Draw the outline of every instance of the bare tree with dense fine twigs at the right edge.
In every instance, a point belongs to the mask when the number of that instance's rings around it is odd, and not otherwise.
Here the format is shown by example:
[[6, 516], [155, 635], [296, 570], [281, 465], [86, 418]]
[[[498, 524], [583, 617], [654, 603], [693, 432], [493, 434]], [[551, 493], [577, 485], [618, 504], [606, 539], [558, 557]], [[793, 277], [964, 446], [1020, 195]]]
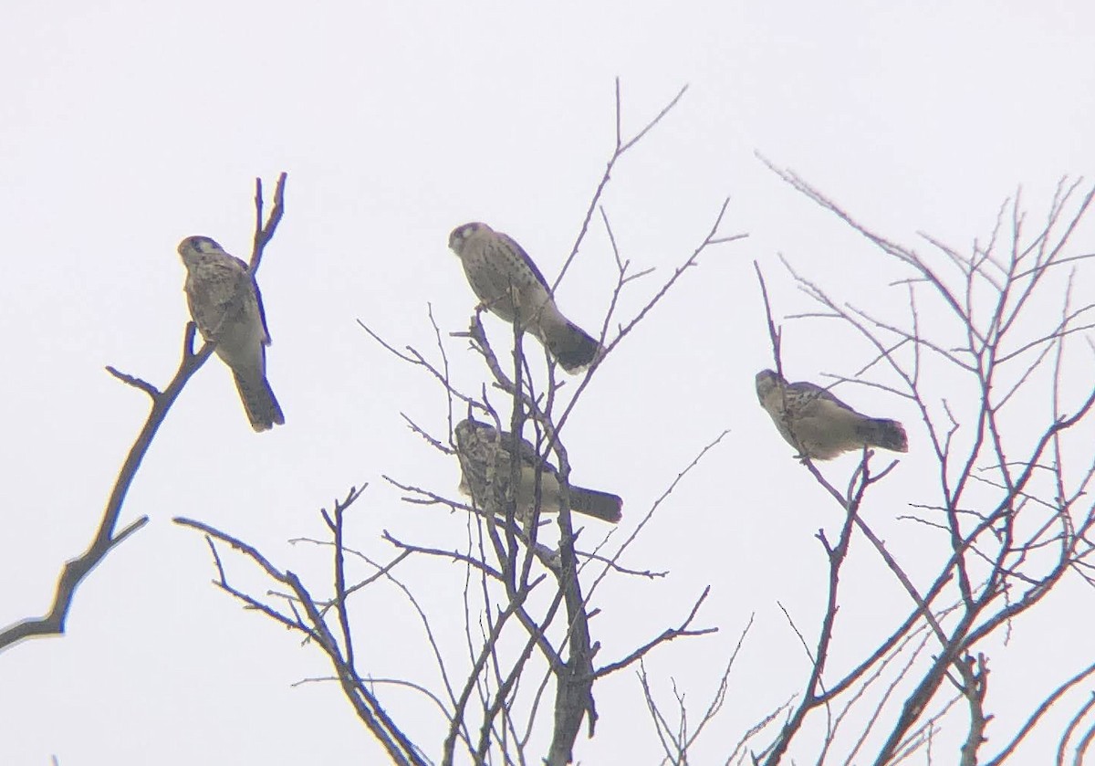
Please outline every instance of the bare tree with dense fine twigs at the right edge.
[[[1016, 195], [1001, 207], [988, 241], [976, 242], [968, 254], [929, 236], [927, 252], [920, 253], [872, 232], [795, 173], [769, 167], [908, 272], [892, 286], [904, 291], [907, 307], [895, 318], [839, 298], [784, 260], [791, 279], [820, 307], [794, 319], [837, 319], [871, 350], [862, 364], [853, 363], [853, 371], [834, 371], [833, 381], [886, 390], [920, 413], [926, 434], [920, 449], [931, 455], [935, 479], [923, 495], [909, 499], [910, 511], [901, 518], [932, 530], [935, 547], [918, 551], [915, 562], [899, 560], [864, 519], [861, 512], [892, 461], [878, 469], [880, 458], [865, 450], [840, 489], [827, 469], [803, 460], [819, 496], [828, 498], [842, 519], [835, 541], [818, 534], [829, 561], [823, 616], [810, 629], [792, 622], [810, 673], [769, 743], [757, 751], [739, 747], [729, 762], [773, 765], [793, 756], [881, 765], [919, 753], [932, 763], [934, 747], [943, 763], [1001, 764], [1045, 728], [1051, 708], [1068, 705], [1076, 712], [1060, 735], [1057, 763], [1065, 763], [1067, 751], [1074, 758], [1069, 763], [1082, 762], [1095, 731], [1093, 704], [1090, 695], [1074, 691], [1095, 673], [1091, 659], [1081, 658], [1072, 671], [1056, 667], [1065, 676], [1060, 686], [1034, 705], [1017, 730], [1000, 731], [996, 724], [990, 753], [994, 706], [987, 645], [1067, 579], [1095, 583], [1095, 506], [1088, 495], [1095, 473], [1090, 355], [1095, 346], [1087, 334], [1095, 327], [1095, 304], [1077, 300], [1073, 289], [1093, 254], [1076, 253], [1072, 245], [1095, 188], [1061, 181], [1045, 222], [1034, 226]], [[759, 268], [758, 276], [781, 368], [782, 325], [773, 321]], [[833, 670], [835, 626], [856, 619], [841, 608], [841, 574], [860, 537], [885, 562], [908, 613], [883, 629], [885, 639], [858, 662]], [[925, 561], [934, 562], [933, 575], [910, 574]], [[819, 738], [804, 734], [814, 719]], [[941, 729], [952, 732], [952, 740], [953, 732], [963, 732], [954, 752], [941, 751], [949, 746], [936, 742]]]

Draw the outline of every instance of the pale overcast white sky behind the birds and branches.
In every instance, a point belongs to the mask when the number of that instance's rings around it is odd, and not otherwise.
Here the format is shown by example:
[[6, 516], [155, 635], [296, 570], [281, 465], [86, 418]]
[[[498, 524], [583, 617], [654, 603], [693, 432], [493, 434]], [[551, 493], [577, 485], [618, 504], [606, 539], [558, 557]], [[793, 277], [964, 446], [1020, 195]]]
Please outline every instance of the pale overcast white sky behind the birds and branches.
[[[771, 358], [751, 263], [764, 266], [782, 315], [809, 305], [779, 267], [780, 252], [867, 305], [892, 301], [886, 285], [901, 275], [753, 152], [794, 168], [890, 238], [913, 242], [924, 230], [956, 248], [989, 231], [1017, 185], [1040, 213], [1062, 174], [1090, 175], [1095, 164], [1095, 7], [1082, 0], [322, 10], [10, 0], [4, 10], [0, 625], [46, 608], [146, 415], [146, 398], [103, 366], [163, 384], [177, 364], [187, 319], [178, 240], [210, 236], [246, 258], [254, 178], [272, 190], [279, 171], [289, 173], [286, 218], [260, 274], [269, 377], [287, 424], [254, 434], [223, 366], [200, 370], [123, 514], [123, 523], [147, 514], [149, 526], [82, 585], [65, 638], [0, 656], [5, 765], [46, 764], [51, 754], [64, 766], [380, 757], [336, 688], [290, 687], [328, 672], [319, 653], [219, 593], [205, 544], [170, 518], [235, 533], [321, 583], [325, 559], [287, 540], [321, 536], [318, 508], [370, 482], [353, 519], [357, 547], [384, 557], [383, 529], [460, 545], [461, 519], [402, 504], [380, 479], [454, 492], [456, 462], [399, 414], [441, 433], [443, 398], [355, 319], [424, 351], [434, 348], [427, 304], [445, 332], [464, 329], [474, 299], [446, 245], [468, 220], [515, 237], [553, 278], [611, 151], [616, 76], [625, 132], [689, 85], [604, 198], [623, 254], [664, 278], [727, 195], [724, 231], [750, 237], [706, 255], [598, 373], [567, 427], [573, 478], [623, 495], [629, 533], [700, 447], [731, 430], [625, 562], [671, 576], [607, 586], [598, 604], [609, 624], [603, 656], [613, 658], [677, 622], [713, 586], [700, 621], [723, 632], [664, 648], [649, 663], [661, 691], [672, 676], [698, 705], [756, 613], [733, 682], [739, 693], [731, 688], [700, 756], [727, 753], [805, 678], [775, 601], [812, 626], [825, 567], [812, 535], [839, 522], [757, 407], [753, 375]], [[560, 304], [599, 327], [612, 282], [595, 229]], [[627, 296], [625, 316], [653, 284]], [[788, 374], [851, 374], [865, 357], [846, 340], [830, 324], [789, 325]], [[476, 389], [475, 357], [458, 340], [449, 352], [458, 380]], [[912, 453], [878, 490], [871, 518], [915, 570], [920, 546], [937, 540], [889, 521], [932, 480], [917, 455], [915, 412], [878, 391], [850, 398], [910, 424]], [[827, 470], [842, 485], [853, 464]], [[850, 564], [857, 607], [844, 660], [863, 645], [856, 632], [875, 634], [874, 617], [908, 608], [877, 559], [861, 553]], [[435, 563], [408, 580], [441, 602], [462, 578]], [[1091, 660], [1082, 640], [1091, 592], [1075, 594], [1085, 601], [1065, 605], [1069, 629], [1052, 633], [1054, 654], [1075, 650], [1062, 675]], [[1053, 608], [1040, 618], [1046, 629], [1058, 625]], [[415, 618], [391, 588], [357, 609], [364, 671], [429, 677]], [[1031, 658], [1046, 636], [1016, 632], [995, 660], [995, 694], [1026, 699], [1040, 688]], [[579, 741], [579, 758], [656, 762], [634, 677], [597, 693], [598, 735]], [[397, 718], [436, 725], [405, 694], [387, 699]]]

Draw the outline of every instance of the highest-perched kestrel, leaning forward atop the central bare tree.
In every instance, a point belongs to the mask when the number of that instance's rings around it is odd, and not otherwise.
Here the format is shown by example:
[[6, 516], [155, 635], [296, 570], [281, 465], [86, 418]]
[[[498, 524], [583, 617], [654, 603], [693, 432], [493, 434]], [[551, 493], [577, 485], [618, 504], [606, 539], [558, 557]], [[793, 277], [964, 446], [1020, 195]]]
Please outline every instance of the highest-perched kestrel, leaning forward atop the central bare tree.
[[551, 287], [528, 253], [486, 224], [464, 224], [449, 236], [449, 248], [460, 256], [464, 273], [483, 306], [512, 322], [519, 317], [563, 369], [578, 373], [603, 353], [601, 344], [564, 317]]

